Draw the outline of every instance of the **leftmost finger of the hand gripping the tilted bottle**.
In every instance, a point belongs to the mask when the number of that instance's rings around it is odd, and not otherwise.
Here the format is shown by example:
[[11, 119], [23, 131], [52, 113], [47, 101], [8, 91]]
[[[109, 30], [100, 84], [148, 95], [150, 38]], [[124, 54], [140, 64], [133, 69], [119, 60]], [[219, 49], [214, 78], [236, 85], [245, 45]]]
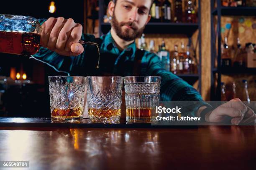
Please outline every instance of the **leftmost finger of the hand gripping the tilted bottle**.
[[42, 32], [41, 32], [41, 45], [43, 47], [47, 47], [49, 36], [51, 33], [54, 24], [56, 23], [56, 18], [49, 18], [46, 20], [42, 25]]

